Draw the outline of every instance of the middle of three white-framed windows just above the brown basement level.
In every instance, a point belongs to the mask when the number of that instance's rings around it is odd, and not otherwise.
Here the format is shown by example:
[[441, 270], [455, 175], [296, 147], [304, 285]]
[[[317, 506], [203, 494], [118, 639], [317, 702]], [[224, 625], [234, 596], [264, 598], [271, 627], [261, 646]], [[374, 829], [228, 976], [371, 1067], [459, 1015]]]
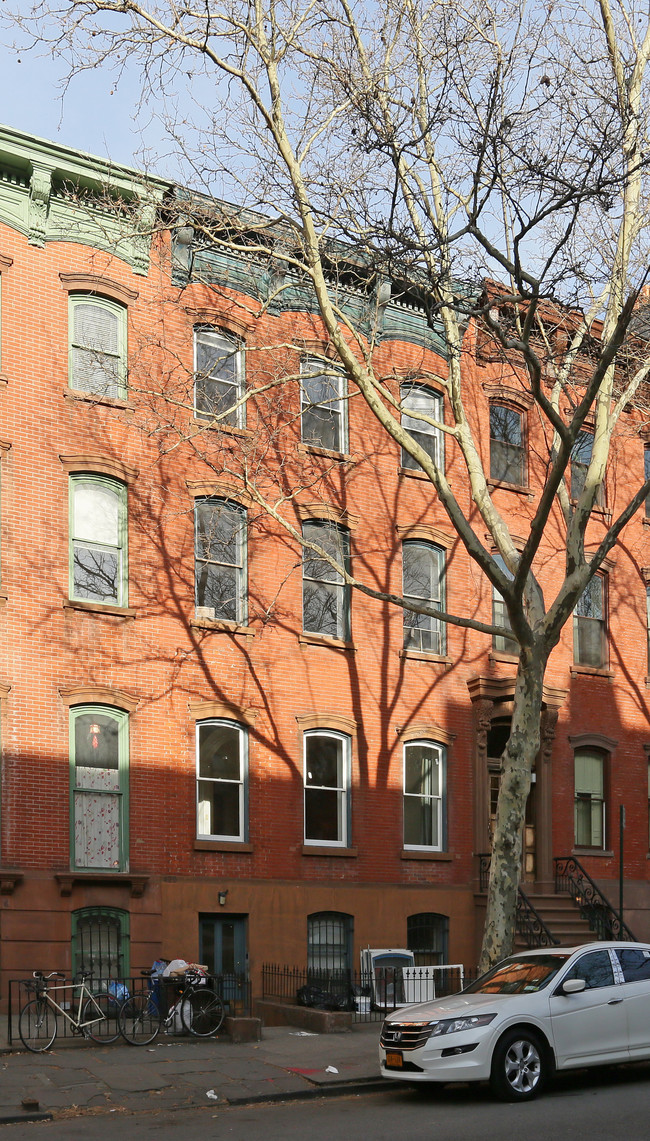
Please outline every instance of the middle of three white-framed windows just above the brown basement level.
[[328, 729], [304, 734], [304, 843], [348, 847], [350, 738]]

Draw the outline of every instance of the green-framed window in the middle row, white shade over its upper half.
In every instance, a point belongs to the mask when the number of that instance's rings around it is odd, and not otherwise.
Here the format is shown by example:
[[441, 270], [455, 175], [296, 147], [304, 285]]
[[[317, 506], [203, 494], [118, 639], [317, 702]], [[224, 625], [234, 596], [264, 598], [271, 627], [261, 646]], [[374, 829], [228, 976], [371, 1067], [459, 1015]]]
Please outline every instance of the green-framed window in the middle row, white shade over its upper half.
[[116, 479], [70, 478], [70, 597], [128, 605], [127, 487]]

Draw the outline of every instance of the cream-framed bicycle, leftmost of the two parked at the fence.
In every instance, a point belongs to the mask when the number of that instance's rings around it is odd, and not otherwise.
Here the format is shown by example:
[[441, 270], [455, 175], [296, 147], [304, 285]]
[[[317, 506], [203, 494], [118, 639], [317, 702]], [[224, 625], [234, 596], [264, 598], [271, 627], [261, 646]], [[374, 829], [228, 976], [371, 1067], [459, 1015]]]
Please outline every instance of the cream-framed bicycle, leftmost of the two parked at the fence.
[[[62, 986], [50, 986], [49, 979], [65, 979], [60, 971], [33, 971], [34, 982], [27, 982], [29, 990], [35, 997], [25, 1003], [18, 1019], [18, 1034], [23, 1045], [32, 1053], [40, 1054], [49, 1050], [58, 1033], [57, 1015], [60, 1014], [72, 1028], [73, 1034], [81, 1034], [92, 1042], [104, 1044], [115, 1042], [120, 1037], [117, 1019], [120, 1002], [109, 994], [92, 994], [88, 988], [91, 974], [82, 974], [79, 982], [64, 982]], [[52, 990], [79, 990], [75, 1000], [76, 1014], [67, 1010], [52, 997]]]

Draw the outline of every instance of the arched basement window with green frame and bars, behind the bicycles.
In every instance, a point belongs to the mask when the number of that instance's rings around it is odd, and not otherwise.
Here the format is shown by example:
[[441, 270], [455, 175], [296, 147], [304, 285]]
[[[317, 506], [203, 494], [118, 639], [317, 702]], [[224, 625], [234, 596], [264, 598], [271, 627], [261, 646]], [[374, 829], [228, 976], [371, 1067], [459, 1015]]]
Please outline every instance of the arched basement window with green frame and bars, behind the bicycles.
[[82, 907], [72, 913], [72, 973], [92, 974], [94, 985], [130, 974], [129, 913]]

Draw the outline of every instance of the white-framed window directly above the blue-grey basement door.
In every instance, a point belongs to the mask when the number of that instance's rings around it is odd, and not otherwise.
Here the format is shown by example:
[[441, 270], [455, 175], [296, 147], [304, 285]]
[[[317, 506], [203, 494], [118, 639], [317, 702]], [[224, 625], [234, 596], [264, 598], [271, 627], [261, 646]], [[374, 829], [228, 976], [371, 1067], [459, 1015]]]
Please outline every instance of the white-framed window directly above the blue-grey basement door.
[[196, 726], [196, 834], [246, 840], [247, 734], [236, 721]]

